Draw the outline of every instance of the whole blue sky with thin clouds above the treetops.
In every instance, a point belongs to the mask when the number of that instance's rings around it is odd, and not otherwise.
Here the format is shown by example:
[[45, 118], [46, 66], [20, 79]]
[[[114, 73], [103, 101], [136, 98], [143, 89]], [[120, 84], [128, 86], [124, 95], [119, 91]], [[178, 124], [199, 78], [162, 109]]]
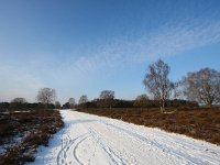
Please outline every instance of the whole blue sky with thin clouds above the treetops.
[[170, 79], [220, 70], [219, 0], [0, 0], [0, 101], [55, 88], [57, 100], [134, 99], [148, 64]]

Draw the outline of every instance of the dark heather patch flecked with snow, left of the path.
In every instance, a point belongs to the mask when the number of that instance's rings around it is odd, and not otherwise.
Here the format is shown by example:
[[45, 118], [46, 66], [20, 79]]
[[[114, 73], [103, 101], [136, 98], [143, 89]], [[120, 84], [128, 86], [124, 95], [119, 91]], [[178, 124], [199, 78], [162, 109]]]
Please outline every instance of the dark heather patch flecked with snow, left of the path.
[[34, 161], [36, 147], [47, 145], [48, 139], [63, 124], [59, 112], [55, 110], [0, 113], [0, 146], [6, 146], [6, 152], [0, 154], [0, 164]]

